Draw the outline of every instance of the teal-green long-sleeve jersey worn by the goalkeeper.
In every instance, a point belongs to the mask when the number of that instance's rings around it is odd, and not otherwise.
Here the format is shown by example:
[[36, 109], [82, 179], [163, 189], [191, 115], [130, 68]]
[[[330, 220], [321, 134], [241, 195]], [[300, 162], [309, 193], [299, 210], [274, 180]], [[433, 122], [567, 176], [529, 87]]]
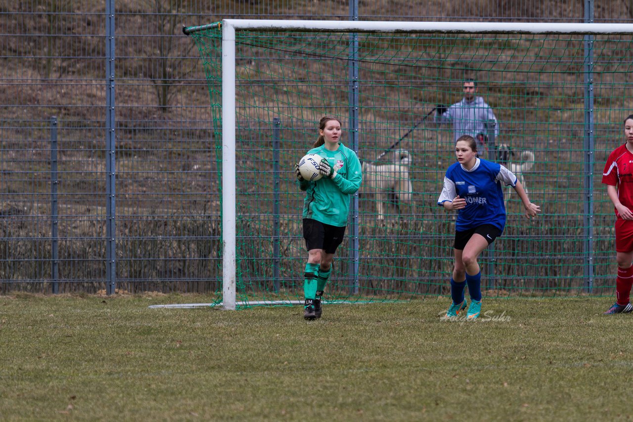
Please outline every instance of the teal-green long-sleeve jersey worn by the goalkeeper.
[[334, 178], [322, 177], [316, 182], [301, 182], [306, 190], [303, 218], [311, 218], [335, 227], [348, 225], [349, 197], [360, 188], [363, 180], [356, 152], [339, 143], [339, 149], [329, 151], [320, 146], [308, 151], [327, 159], [338, 173]]

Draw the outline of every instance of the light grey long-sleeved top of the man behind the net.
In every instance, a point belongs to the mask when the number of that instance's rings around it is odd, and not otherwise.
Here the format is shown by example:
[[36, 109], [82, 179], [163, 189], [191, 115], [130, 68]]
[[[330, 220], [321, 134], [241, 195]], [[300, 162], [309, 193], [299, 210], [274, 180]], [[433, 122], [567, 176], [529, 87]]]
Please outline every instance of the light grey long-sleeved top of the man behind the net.
[[436, 115], [439, 123], [452, 121], [455, 140], [461, 135], [470, 135], [477, 139], [478, 133], [487, 133], [486, 122], [494, 120], [494, 137], [499, 137], [499, 123], [492, 113], [492, 108], [482, 97], [475, 97], [474, 101], [466, 101], [462, 98], [450, 106], [442, 115]]

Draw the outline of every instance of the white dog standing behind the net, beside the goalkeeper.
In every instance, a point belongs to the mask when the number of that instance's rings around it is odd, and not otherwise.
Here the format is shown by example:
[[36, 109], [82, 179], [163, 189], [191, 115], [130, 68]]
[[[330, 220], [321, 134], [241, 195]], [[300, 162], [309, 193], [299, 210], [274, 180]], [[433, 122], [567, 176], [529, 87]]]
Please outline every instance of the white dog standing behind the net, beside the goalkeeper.
[[389, 202], [396, 206], [398, 212], [401, 202], [413, 202], [413, 184], [409, 177], [411, 155], [403, 149], [393, 151], [393, 155], [392, 163], [361, 163], [363, 183], [360, 193], [363, 196], [375, 195], [378, 220], [384, 220]]

